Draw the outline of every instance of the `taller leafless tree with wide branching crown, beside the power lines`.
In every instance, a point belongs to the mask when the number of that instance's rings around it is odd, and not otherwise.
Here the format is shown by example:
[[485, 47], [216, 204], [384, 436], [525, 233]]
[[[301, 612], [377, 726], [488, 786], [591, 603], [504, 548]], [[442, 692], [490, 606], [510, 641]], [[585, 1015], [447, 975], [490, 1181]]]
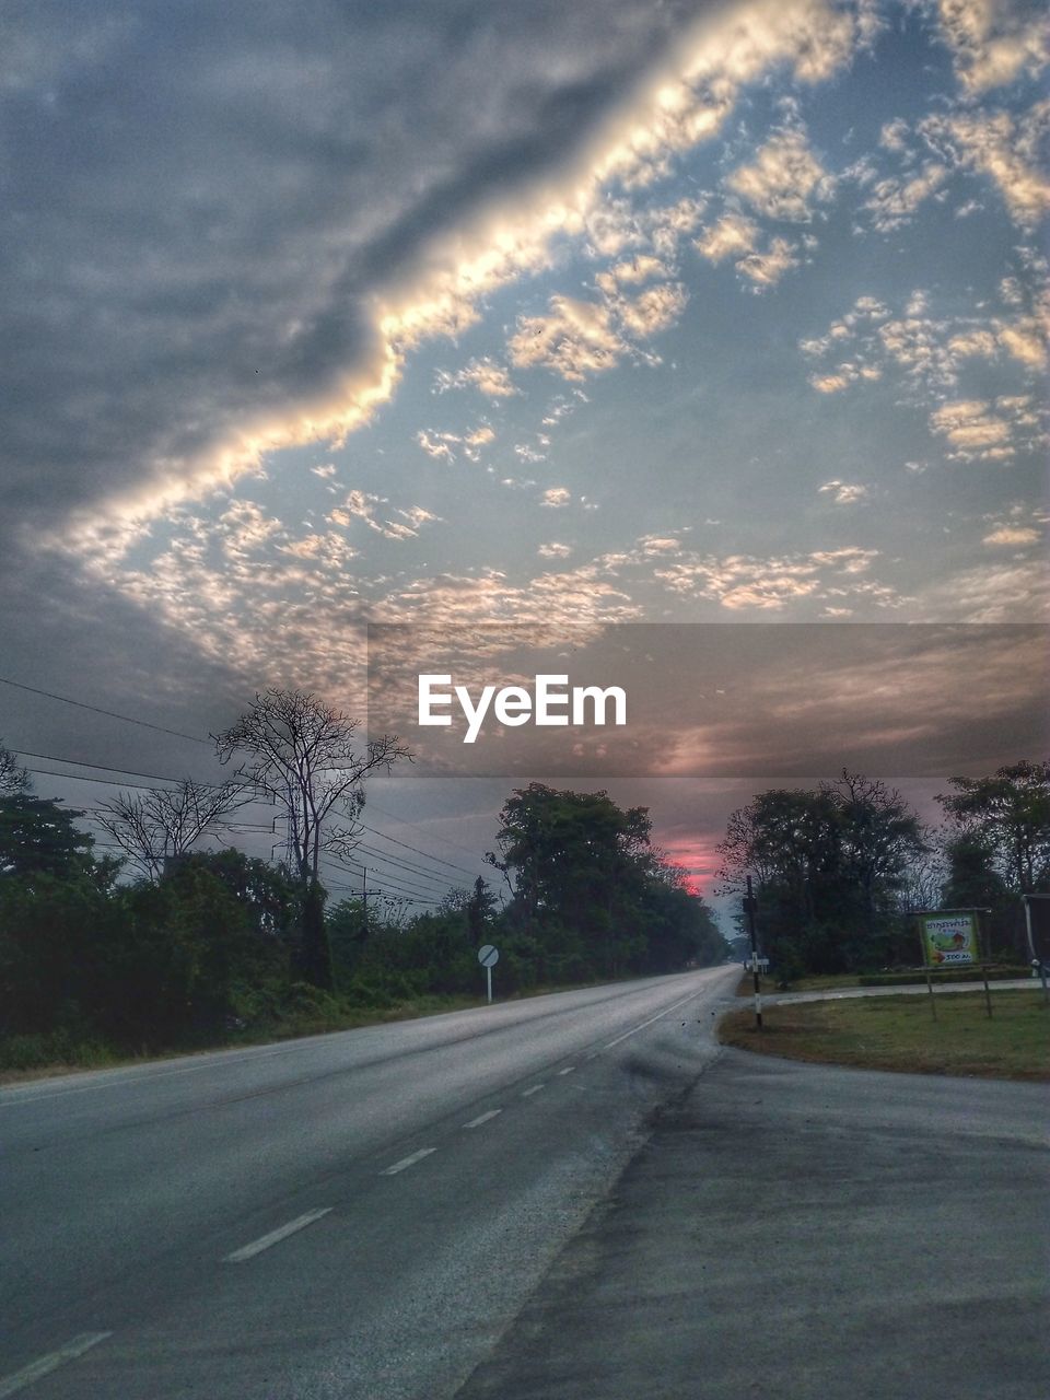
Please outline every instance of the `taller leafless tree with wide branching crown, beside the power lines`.
[[288, 820], [295, 874], [304, 885], [318, 881], [321, 853], [347, 855], [360, 837], [364, 780], [412, 759], [396, 735], [357, 749], [357, 720], [302, 690], [269, 689], [230, 729], [213, 735], [227, 763], [246, 755], [244, 773], [272, 795]]

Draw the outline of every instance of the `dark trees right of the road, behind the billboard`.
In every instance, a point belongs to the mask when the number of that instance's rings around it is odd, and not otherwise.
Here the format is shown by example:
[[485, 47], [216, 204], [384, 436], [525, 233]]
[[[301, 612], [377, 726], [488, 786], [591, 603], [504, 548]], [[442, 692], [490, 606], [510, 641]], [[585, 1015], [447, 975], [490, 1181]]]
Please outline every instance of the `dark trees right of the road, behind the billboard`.
[[986, 951], [1028, 960], [1022, 896], [1050, 890], [1050, 763], [949, 787], [937, 798], [939, 829], [885, 783], [848, 771], [760, 792], [734, 812], [721, 892], [753, 876], [760, 942], [780, 980], [914, 966], [918, 909], [987, 910]]

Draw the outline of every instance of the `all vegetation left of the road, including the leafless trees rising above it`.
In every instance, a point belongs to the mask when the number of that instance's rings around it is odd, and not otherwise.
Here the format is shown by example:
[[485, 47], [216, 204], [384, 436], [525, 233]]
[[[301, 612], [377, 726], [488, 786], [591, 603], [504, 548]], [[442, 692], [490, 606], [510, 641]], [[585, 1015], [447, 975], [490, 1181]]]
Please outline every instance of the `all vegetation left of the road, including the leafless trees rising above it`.
[[[367, 776], [405, 756], [389, 738], [358, 755], [354, 738], [314, 697], [267, 692], [217, 736], [235, 778], [106, 805], [122, 858], [98, 854], [84, 813], [34, 795], [0, 746], [0, 1072], [476, 1005], [486, 942], [500, 948], [500, 998], [725, 958], [710, 910], [652, 846], [647, 811], [603, 792], [517, 790], [486, 855], [491, 879], [430, 906], [332, 899], [323, 861], [353, 853]], [[245, 790], [283, 804], [291, 860], [202, 848]]]

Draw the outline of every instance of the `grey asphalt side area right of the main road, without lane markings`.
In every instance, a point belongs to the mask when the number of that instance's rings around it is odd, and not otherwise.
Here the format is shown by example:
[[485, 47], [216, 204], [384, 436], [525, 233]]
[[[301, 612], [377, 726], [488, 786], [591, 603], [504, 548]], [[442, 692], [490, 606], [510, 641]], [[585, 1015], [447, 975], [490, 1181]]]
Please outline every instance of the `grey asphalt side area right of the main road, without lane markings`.
[[727, 1050], [459, 1400], [1050, 1393], [1046, 1107]]

